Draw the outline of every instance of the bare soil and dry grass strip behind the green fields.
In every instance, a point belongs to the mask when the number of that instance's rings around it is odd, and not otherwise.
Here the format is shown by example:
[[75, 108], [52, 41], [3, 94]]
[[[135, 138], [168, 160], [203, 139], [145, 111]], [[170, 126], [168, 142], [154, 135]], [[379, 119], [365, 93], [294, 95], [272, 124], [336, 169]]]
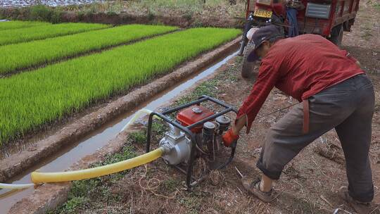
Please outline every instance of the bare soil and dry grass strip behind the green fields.
[[176, 25], [179, 27], [243, 27], [245, 0], [213, 1], [104, 1], [39, 9], [0, 8], [0, 17], [44, 20], [52, 23], [85, 22]]

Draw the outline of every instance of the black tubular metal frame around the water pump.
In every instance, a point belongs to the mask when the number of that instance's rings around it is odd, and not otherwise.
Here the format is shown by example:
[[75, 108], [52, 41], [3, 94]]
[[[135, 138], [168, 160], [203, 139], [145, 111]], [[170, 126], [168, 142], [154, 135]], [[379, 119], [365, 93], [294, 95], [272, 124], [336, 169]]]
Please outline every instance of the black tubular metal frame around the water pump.
[[[182, 110], [184, 108], [187, 108], [189, 106], [194, 106], [194, 105], [200, 106], [201, 103], [203, 103], [205, 101], [211, 101], [211, 102], [213, 102], [219, 106], [222, 106], [222, 107], [224, 107], [224, 110], [220, 111], [219, 113], [215, 113], [213, 115], [210, 115], [209, 117], [204, 118], [203, 120], [199, 120], [198, 122], [191, 124], [191, 125], [188, 125], [188, 126], [183, 126], [183, 125], [179, 124], [176, 120], [173, 120], [172, 118], [170, 118], [168, 116], [170, 113], [175, 113], [175, 112]], [[189, 163], [187, 164], [187, 169], [184, 170], [184, 169], [180, 168], [179, 165], [175, 165], [175, 168], [179, 169], [181, 172], [184, 172], [184, 174], [186, 174], [186, 186], [187, 186], [188, 190], [191, 190], [191, 187], [196, 186], [197, 184], [199, 184], [200, 182], [205, 180], [205, 178], [208, 176], [208, 174], [205, 174], [205, 175], [201, 176], [200, 178], [198, 178], [198, 180], [192, 176], [193, 175], [193, 168], [194, 168], [194, 160], [196, 158], [195, 157], [195, 154], [196, 154], [196, 152], [195, 152], [196, 151], [196, 134], [191, 132], [191, 128], [196, 127], [198, 125], [203, 125], [203, 123], [208, 122], [210, 120], [213, 120], [213, 119], [219, 117], [220, 115], [224, 115], [224, 114], [229, 113], [231, 111], [233, 111], [237, 115], [236, 109], [233, 108], [232, 106], [229, 106], [226, 103], [224, 103], [223, 101], [220, 101], [220, 100], [215, 99], [213, 97], [203, 95], [203, 96], [199, 97], [196, 101], [191, 101], [190, 103], [186, 103], [182, 106], [170, 108], [166, 111], [163, 111], [163, 113], [152, 112], [149, 115], [149, 119], [148, 119], [148, 133], [147, 133], [147, 137], [146, 137], [146, 152], [149, 152], [151, 150], [152, 123], [153, 123], [153, 116], [155, 116], [155, 115], [157, 117], [165, 120], [165, 122], [177, 127], [179, 130], [184, 132], [188, 137], [190, 137], [190, 139], [191, 139], [191, 151], [190, 151]], [[232, 145], [231, 154], [230, 154], [228, 160], [225, 163], [222, 163], [221, 165], [219, 165], [216, 168], [217, 170], [220, 170], [220, 169], [226, 167], [229, 163], [231, 163], [231, 161], [235, 155], [235, 150], [236, 150], [236, 144]]]

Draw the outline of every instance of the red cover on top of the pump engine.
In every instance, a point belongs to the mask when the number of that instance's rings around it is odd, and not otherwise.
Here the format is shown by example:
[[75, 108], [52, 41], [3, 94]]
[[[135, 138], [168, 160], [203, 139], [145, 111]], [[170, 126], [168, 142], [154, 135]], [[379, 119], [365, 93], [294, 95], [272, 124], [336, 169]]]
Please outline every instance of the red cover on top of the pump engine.
[[[203, 120], [204, 118], [207, 118], [213, 114], [213, 111], [210, 111], [210, 109], [205, 108], [203, 106], [190, 106], [182, 111], [179, 111], [179, 113], [177, 114], [177, 120], [181, 123], [181, 125], [188, 126], [198, 122], [199, 120]], [[192, 128], [191, 132], [198, 133], [201, 132], [201, 130], [202, 125], [199, 125], [197, 127]]]

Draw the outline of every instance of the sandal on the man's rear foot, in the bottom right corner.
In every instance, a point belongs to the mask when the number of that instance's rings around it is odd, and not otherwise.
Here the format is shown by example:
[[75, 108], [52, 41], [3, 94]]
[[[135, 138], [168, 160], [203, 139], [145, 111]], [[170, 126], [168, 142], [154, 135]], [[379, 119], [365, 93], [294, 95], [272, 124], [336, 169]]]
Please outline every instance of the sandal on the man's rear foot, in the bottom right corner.
[[[343, 201], [346, 201], [348, 205], [355, 210], [355, 212], [359, 214], [369, 214], [374, 213], [374, 211], [378, 208], [371, 206], [371, 203], [363, 203], [360, 201], [356, 201], [353, 199], [353, 197], [348, 194], [348, 188], [347, 187], [341, 187], [338, 190], [338, 195], [343, 199]], [[378, 210], [380, 213], [380, 210]]]

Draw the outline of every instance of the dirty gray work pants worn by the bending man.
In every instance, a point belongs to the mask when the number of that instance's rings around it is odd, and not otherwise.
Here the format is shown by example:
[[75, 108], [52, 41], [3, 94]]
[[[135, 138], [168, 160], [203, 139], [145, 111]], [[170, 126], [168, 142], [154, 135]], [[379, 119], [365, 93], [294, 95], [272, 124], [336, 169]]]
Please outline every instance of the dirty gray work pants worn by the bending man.
[[274, 124], [262, 146], [258, 168], [278, 180], [284, 166], [305, 146], [335, 128], [346, 158], [350, 196], [369, 202], [374, 197], [369, 145], [374, 113], [374, 88], [367, 75], [356, 75], [309, 98], [309, 132], [303, 133], [303, 104]]

